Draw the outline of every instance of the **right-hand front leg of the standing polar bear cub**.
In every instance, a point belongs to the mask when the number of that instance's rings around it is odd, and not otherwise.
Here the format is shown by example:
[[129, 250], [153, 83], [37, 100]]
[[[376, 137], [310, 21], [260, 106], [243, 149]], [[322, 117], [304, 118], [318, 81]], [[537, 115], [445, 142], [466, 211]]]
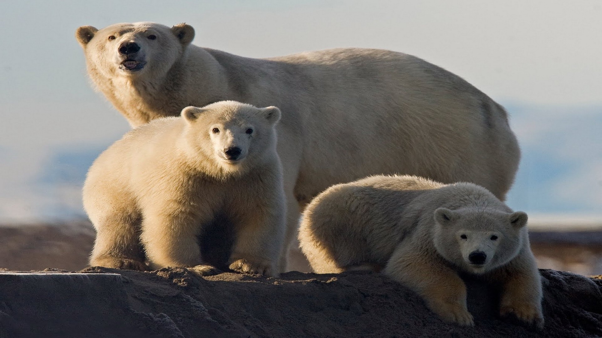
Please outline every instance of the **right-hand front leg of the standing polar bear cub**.
[[[286, 204], [282, 185], [270, 186], [264, 180], [258, 189], [246, 189], [247, 194], [232, 200], [235, 242], [229, 268], [248, 274], [275, 277], [286, 230]], [[249, 192], [255, 191], [255, 194]]]

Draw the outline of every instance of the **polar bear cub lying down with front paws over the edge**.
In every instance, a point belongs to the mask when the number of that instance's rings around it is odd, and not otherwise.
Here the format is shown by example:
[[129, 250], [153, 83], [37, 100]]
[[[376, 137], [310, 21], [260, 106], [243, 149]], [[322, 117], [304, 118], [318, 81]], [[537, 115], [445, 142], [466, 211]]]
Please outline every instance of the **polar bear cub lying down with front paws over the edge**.
[[543, 324], [527, 214], [472, 183], [373, 176], [335, 185], [303, 212], [299, 242], [318, 273], [382, 271], [447, 321], [473, 325], [458, 271], [502, 288], [502, 315]]

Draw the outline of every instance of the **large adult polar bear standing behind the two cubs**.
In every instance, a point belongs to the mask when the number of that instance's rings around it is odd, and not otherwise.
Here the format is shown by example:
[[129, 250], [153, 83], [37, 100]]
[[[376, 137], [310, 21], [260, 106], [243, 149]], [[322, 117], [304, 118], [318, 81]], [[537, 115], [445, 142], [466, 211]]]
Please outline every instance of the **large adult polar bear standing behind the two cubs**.
[[81, 26], [76, 38], [90, 78], [132, 127], [220, 100], [278, 106], [288, 242], [303, 206], [336, 183], [414, 174], [473, 182], [504, 200], [518, 168], [504, 109], [411, 55], [353, 48], [245, 58], [190, 45], [194, 29], [184, 23]]

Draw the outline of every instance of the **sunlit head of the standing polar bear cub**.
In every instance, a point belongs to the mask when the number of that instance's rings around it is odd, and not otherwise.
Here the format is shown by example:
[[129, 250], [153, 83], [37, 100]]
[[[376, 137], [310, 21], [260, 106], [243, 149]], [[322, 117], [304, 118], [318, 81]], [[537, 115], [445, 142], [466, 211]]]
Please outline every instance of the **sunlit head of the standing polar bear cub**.
[[185, 140], [190, 153], [201, 153], [224, 173], [241, 173], [272, 160], [276, 153], [276, 123], [280, 109], [220, 101], [182, 109]]

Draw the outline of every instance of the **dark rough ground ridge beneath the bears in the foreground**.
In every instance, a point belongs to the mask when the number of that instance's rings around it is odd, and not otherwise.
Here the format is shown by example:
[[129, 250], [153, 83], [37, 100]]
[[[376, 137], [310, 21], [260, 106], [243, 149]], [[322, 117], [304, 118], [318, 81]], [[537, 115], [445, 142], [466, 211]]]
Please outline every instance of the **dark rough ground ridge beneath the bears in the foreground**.
[[[113, 284], [95, 285], [105, 283], [98, 278], [84, 288], [77, 286], [81, 283], [66, 287], [39, 281], [47, 297], [37, 295], [32, 304], [29, 298], [14, 297], [7, 284], [11, 281], [0, 275], [0, 336], [40, 336], [45, 328], [39, 324], [38, 331], [27, 331], [40, 311], [45, 311], [45, 323], [53, 323], [44, 337], [602, 336], [602, 280], [554, 270], [541, 270], [542, 330], [500, 318], [495, 287], [470, 278], [468, 308], [476, 326], [467, 328], [442, 322], [420, 297], [370, 272], [287, 272], [279, 278], [231, 272], [200, 278], [181, 268], [138, 272], [95, 267], [81, 272], [122, 277], [117, 284], [109, 278], [106, 283]], [[104, 301], [96, 304], [99, 300]], [[22, 308], [28, 316], [19, 316]]]

